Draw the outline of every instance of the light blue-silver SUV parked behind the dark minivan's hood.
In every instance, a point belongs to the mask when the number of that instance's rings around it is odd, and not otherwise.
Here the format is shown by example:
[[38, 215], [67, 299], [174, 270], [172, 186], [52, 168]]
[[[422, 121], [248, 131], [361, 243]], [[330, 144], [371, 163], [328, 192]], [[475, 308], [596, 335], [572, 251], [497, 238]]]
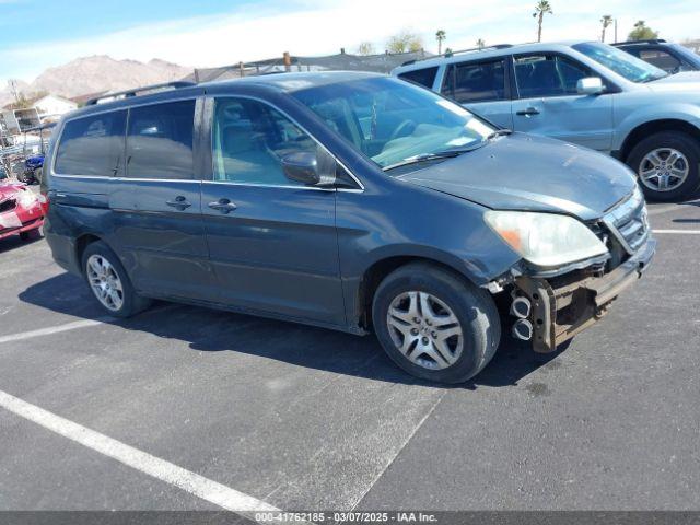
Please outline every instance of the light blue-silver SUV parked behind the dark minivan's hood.
[[609, 153], [648, 198], [700, 186], [700, 72], [669, 74], [598, 42], [501, 45], [404, 65], [404, 80], [515, 131]]

